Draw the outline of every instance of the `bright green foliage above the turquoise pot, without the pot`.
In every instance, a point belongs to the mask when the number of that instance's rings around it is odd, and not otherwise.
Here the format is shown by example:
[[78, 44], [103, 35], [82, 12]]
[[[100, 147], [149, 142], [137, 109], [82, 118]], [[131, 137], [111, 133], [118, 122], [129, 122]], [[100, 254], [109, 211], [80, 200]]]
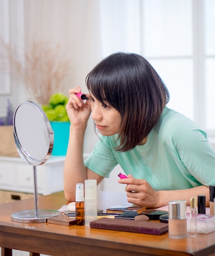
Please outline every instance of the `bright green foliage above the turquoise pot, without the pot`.
[[68, 97], [61, 92], [57, 92], [51, 95], [48, 105], [42, 105], [42, 109], [46, 113], [49, 121], [69, 121], [66, 112], [66, 103]]

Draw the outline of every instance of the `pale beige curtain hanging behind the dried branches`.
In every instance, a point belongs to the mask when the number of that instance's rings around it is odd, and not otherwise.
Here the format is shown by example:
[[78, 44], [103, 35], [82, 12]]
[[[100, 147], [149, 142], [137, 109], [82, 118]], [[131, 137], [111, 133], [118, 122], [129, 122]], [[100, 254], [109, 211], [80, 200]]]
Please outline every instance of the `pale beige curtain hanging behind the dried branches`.
[[77, 85], [101, 59], [99, 0], [25, 0], [25, 44], [59, 44], [70, 58], [64, 92]]

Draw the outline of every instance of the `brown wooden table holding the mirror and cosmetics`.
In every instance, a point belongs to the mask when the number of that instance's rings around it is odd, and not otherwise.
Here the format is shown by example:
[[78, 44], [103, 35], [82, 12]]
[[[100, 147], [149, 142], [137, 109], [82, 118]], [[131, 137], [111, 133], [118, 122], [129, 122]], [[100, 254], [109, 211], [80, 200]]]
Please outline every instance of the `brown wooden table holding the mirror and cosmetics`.
[[[98, 208], [126, 205], [125, 194], [99, 192]], [[39, 209], [58, 210], [67, 201], [64, 193], [38, 198]], [[34, 209], [34, 200], [26, 199], [0, 205], [0, 247], [2, 256], [12, 249], [30, 252], [31, 256], [102, 255], [215, 255], [215, 232], [197, 234], [196, 238], [173, 240], [161, 236], [130, 232], [91, 229], [85, 226], [62, 226], [50, 223], [26, 224], [11, 221], [11, 213]], [[33, 252], [33, 253], [32, 253]]]

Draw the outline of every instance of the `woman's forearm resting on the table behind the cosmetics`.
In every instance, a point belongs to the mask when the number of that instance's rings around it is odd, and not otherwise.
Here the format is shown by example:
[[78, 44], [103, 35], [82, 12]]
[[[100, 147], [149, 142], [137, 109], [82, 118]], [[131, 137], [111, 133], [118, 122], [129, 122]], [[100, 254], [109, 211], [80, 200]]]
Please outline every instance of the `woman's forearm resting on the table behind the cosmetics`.
[[197, 186], [192, 189], [182, 190], [169, 190], [169, 191], [158, 191], [159, 202], [158, 207], [168, 205], [171, 200], [185, 200], [187, 205], [190, 205], [190, 198], [197, 197], [198, 195], [206, 196], [206, 206], [209, 206], [209, 188], [207, 186]]

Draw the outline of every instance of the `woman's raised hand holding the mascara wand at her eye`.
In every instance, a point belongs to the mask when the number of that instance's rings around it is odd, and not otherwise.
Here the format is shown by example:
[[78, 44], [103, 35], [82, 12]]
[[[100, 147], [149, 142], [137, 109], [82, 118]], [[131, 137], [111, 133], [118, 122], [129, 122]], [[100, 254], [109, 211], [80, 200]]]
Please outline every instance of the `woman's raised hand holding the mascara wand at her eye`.
[[74, 126], [86, 124], [91, 113], [91, 97], [86, 94], [89, 98], [84, 103], [83, 100], [79, 99], [76, 93], [81, 92], [79, 86], [69, 90], [69, 100], [66, 104], [66, 111], [70, 119], [70, 123]]

